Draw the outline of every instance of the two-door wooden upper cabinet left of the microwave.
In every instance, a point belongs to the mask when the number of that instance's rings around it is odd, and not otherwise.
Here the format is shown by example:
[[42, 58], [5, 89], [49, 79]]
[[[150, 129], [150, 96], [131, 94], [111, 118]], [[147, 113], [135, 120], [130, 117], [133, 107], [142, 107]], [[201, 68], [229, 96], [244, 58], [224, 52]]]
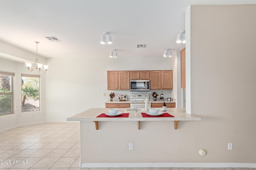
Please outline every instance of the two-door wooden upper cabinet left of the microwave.
[[130, 90], [130, 71], [107, 71], [108, 90]]

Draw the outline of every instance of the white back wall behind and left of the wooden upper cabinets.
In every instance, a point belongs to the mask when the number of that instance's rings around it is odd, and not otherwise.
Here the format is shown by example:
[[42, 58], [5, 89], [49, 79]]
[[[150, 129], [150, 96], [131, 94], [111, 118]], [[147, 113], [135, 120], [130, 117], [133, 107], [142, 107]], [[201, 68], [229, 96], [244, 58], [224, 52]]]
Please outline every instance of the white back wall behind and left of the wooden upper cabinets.
[[[110, 98], [110, 92], [130, 94], [129, 90], [107, 90], [108, 70], [171, 70], [171, 60], [162, 56], [110, 58], [108, 55], [100, 58], [49, 59], [50, 68], [46, 77], [46, 121], [66, 121], [67, 117], [89, 108], [105, 107], [104, 102]], [[172, 93], [173, 90], [154, 91], [158, 94], [163, 92], [165, 97], [176, 96], [176, 93]]]

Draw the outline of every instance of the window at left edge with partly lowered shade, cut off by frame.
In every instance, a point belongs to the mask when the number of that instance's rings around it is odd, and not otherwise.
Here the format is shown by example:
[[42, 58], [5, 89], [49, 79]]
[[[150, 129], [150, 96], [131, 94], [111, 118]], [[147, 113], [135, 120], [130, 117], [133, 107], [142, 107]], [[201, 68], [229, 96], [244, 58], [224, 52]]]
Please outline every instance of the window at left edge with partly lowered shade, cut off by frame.
[[12, 72], [0, 71], [0, 115], [13, 113], [13, 77]]

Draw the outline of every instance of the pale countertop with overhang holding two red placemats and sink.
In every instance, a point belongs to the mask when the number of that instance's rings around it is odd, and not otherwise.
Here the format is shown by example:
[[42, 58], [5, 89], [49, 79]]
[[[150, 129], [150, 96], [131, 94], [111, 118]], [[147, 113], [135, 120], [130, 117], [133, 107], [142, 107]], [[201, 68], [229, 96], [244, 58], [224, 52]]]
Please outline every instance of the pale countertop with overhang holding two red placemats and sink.
[[[159, 109], [160, 111], [162, 108]], [[119, 108], [119, 111], [125, 113], [125, 108]], [[165, 113], [174, 117], [142, 117], [141, 112], [130, 112], [129, 117], [97, 117], [101, 113], [108, 112], [108, 108], [91, 108], [77, 115], [67, 118], [67, 121], [199, 121], [200, 117], [188, 114], [185, 108], [167, 108]]]

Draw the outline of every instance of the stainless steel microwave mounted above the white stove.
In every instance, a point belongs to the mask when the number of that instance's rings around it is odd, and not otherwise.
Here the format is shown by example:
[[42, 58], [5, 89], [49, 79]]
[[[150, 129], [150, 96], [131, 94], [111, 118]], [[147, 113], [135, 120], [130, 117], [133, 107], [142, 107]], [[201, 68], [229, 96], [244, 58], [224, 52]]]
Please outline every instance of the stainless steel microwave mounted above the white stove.
[[149, 91], [150, 80], [130, 80], [130, 91]]

